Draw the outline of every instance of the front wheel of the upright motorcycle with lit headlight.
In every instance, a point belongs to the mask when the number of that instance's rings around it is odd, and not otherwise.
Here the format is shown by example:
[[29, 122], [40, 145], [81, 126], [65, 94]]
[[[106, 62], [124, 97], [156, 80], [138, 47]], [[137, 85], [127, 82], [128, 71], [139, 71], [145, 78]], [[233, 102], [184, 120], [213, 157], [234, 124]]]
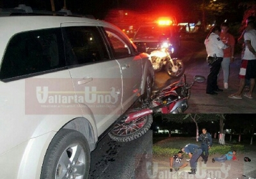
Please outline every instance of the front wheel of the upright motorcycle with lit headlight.
[[185, 67], [184, 63], [177, 59], [174, 61], [174, 66], [172, 65], [172, 62], [168, 62], [165, 68], [166, 72], [170, 77], [180, 77], [182, 74], [184, 74]]

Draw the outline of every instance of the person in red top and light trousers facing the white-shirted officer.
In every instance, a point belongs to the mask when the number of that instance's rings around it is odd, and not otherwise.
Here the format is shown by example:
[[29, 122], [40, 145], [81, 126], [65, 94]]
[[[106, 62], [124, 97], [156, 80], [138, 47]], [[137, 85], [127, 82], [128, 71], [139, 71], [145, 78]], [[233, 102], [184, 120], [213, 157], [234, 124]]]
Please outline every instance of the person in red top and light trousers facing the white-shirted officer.
[[220, 39], [223, 43], [230, 45], [230, 48], [224, 49], [223, 61], [221, 62], [221, 68], [223, 70], [223, 85], [225, 89], [228, 89], [228, 76], [229, 76], [229, 65], [234, 62], [235, 52], [235, 38], [233, 35], [228, 33], [228, 23], [223, 22], [221, 24]]

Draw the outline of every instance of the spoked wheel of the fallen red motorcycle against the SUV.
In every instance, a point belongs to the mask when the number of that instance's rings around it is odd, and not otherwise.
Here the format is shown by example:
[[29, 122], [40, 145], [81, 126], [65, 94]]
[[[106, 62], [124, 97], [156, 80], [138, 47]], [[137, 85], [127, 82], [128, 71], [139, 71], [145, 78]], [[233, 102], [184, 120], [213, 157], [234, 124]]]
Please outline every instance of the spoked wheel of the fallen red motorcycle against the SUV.
[[[134, 113], [141, 109], [132, 109], [127, 113]], [[109, 137], [117, 142], [129, 142], [145, 134], [153, 121], [152, 114], [142, 116], [134, 121], [125, 123], [125, 118], [118, 121], [108, 133]]]

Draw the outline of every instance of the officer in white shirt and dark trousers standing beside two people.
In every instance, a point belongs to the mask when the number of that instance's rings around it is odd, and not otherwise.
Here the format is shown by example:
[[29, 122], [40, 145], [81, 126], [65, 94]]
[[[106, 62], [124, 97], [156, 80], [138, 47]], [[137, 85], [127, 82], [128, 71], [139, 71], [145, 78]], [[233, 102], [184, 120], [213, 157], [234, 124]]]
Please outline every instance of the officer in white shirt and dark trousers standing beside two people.
[[208, 61], [214, 61], [211, 64], [209, 63], [211, 68], [207, 77], [206, 87], [206, 93], [209, 95], [218, 95], [215, 91], [223, 91], [223, 89], [218, 87], [217, 79], [220, 72], [221, 61], [223, 60], [223, 49], [227, 49], [229, 46], [221, 41], [220, 33], [220, 26], [212, 27], [204, 42]]

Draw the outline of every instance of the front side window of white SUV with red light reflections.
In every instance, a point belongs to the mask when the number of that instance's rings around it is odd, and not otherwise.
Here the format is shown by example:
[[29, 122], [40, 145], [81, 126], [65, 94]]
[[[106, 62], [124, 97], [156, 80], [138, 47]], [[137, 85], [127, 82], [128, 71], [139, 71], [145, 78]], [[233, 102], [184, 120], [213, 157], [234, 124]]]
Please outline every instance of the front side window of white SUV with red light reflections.
[[115, 58], [125, 58], [131, 56], [131, 49], [128, 45], [130, 42], [128, 42], [122, 35], [113, 29], [105, 27], [104, 30]]

